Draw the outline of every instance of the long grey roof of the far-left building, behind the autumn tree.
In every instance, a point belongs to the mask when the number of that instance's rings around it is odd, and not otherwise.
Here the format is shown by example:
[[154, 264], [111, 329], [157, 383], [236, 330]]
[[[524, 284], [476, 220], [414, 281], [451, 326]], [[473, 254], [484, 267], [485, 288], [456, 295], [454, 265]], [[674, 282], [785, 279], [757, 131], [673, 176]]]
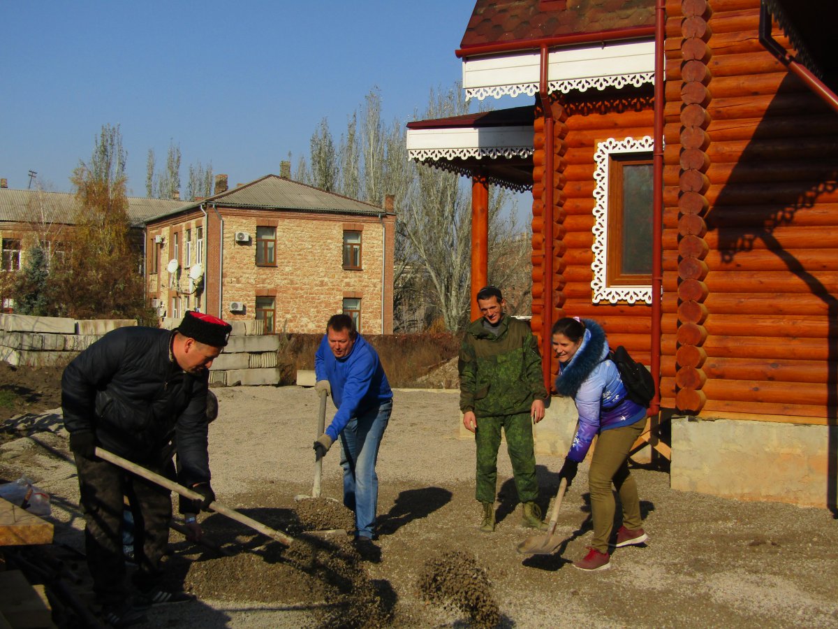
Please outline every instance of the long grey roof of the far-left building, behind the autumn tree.
[[[128, 219], [142, 226], [150, 216], [183, 207], [184, 201], [128, 197]], [[78, 202], [70, 192], [0, 188], [0, 222], [55, 222], [74, 225]]]

